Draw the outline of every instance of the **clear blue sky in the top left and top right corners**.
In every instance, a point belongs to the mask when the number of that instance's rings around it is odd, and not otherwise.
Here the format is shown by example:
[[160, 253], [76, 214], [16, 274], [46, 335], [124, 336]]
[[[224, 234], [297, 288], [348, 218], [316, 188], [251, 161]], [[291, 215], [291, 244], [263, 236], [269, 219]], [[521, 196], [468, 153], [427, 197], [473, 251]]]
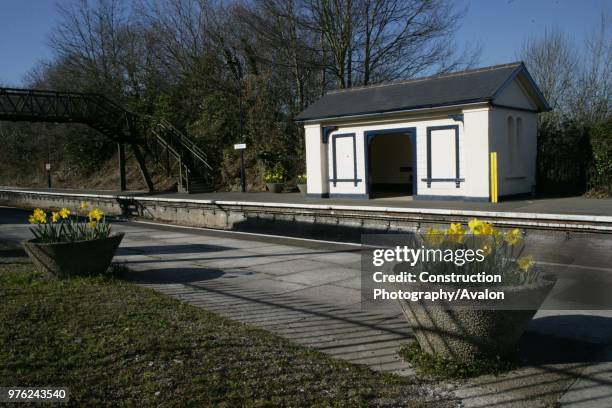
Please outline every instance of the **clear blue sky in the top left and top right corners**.
[[[19, 86], [24, 75], [52, 58], [47, 36], [57, 24], [56, 4], [75, 0], [0, 0], [0, 84]], [[467, 6], [455, 43], [479, 44], [480, 66], [517, 60], [529, 36], [548, 27], [565, 31], [580, 44], [612, 0], [452, 0]], [[612, 41], [612, 39], [611, 39]]]

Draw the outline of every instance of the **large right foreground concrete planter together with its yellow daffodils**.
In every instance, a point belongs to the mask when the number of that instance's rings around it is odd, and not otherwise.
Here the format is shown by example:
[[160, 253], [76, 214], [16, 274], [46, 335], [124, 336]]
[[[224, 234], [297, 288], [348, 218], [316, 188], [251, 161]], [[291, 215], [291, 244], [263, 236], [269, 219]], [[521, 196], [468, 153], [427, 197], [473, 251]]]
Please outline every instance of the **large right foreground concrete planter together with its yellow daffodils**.
[[[450, 224], [445, 230], [430, 228], [420, 236], [420, 241], [424, 249], [480, 249], [485, 255], [482, 262], [467, 270], [454, 263], [428, 262], [423, 270], [430, 275], [491, 273], [501, 277], [501, 282], [432, 285], [417, 281], [411, 291], [452, 291], [463, 285], [469, 289], [501, 291], [507, 299], [501, 306], [480, 299], [467, 300], [461, 307], [400, 300], [421, 349], [462, 362], [496, 358], [512, 351], [556, 281], [554, 276], [543, 276], [531, 256], [521, 256], [522, 232], [519, 229], [502, 232], [490, 223], [473, 219], [467, 228], [461, 224]], [[406, 264], [394, 268], [396, 274], [402, 269], [406, 269]]]

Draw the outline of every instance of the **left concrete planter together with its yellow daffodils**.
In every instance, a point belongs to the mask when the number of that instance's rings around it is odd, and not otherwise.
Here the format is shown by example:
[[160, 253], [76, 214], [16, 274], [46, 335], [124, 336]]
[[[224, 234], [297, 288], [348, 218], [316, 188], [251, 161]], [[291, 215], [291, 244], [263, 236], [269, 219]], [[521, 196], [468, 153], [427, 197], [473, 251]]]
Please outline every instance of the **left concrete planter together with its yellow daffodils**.
[[82, 216], [62, 208], [51, 212], [37, 208], [28, 221], [34, 239], [23, 247], [42, 273], [67, 278], [99, 275], [108, 269], [124, 234], [112, 234], [104, 213], [81, 203]]

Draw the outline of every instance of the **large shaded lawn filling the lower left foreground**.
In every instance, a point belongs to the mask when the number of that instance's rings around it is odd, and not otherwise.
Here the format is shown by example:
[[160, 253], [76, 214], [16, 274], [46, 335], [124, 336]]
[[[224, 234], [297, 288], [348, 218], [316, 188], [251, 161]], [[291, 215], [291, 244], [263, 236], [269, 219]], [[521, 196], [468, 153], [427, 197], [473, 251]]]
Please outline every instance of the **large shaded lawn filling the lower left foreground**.
[[0, 386], [73, 406], [432, 406], [373, 372], [112, 277], [56, 280], [0, 244]]

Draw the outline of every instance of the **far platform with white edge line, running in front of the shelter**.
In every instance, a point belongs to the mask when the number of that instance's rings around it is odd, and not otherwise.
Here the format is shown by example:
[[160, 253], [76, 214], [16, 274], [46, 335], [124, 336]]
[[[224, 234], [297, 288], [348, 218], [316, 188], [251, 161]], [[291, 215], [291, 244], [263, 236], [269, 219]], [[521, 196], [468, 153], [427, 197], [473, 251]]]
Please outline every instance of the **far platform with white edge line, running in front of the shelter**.
[[502, 203], [316, 199], [298, 193], [157, 193], [0, 188], [17, 207], [76, 206], [93, 201], [108, 214], [189, 226], [358, 241], [363, 233], [405, 232], [478, 217], [499, 226], [612, 233], [612, 199], [533, 198]]

